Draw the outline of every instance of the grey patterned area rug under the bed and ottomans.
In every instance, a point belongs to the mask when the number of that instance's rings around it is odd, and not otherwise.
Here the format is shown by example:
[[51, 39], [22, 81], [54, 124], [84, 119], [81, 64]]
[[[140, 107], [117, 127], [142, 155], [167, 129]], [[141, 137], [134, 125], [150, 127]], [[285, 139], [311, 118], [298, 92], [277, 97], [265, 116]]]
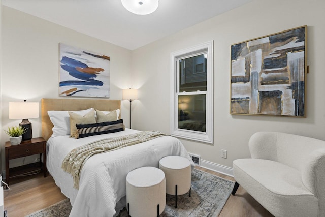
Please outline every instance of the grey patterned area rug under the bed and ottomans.
[[[191, 197], [188, 194], [178, 196], [175, 209], [175, 196], [167, 195], [166, 207], [160, 216], [216, 217], [228, 200], [233, 187], [233, 181], [194, 169], [191, 177]], [[68, 217], [70, 211], [71, 205], [69, 199], [66, 199], [26, 217]], [[126, 216], [127, 211], [124, 208], [118, 217]]]

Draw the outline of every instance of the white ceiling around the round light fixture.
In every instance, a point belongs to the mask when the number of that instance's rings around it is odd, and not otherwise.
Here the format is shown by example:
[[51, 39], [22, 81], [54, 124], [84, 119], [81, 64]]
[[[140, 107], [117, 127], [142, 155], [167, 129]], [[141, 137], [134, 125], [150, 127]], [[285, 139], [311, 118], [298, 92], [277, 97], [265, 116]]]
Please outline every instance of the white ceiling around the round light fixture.
[[158, 9], [149, 15], [127, 11], [120, 0], [2, 0], [2, 3], [134, 50], [250, 1], [159, 0]]

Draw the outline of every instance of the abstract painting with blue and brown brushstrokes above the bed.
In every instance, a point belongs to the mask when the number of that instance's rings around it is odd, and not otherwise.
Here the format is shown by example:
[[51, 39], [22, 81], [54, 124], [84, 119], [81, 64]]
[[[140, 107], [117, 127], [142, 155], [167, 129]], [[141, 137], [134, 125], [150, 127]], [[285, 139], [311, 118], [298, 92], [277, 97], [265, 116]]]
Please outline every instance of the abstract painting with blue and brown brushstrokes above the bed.
[[110, 57], [59, 43], [59, 96], [110, 96]]

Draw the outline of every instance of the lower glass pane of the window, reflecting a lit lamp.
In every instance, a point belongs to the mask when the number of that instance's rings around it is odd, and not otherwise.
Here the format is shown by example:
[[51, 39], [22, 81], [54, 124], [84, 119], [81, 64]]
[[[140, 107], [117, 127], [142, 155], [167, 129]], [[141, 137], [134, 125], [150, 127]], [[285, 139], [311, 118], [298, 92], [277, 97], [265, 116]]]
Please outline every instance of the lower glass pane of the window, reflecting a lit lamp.
[[206, 132], [206, 95], [178, 96], [178, 128]]

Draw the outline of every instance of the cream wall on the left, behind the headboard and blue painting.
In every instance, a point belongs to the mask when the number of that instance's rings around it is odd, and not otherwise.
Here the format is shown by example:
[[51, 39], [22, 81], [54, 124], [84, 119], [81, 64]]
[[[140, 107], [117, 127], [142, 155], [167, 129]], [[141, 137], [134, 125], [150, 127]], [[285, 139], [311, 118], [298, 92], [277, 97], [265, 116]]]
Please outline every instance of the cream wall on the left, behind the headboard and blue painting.
[[[60, 42], [110, 56], [110, 99], [122, 99], [121, 89], [129, 87], [130, 50], [5, 6], [2, 21], [3, 65], [0, 83], [2, 129], [21, 122], [8, 119], [9, 102], [24, 99], [40, 102], [42, 98], [58, 98]], [[126, 115], [126, 125], [128, 125], [127, 103], [122, 103], [122, 117]], [[41, 118], [30, 119], [30, 122], [33, 136], [41, 136]], [[5, 141], [9, 141], [9, 136], [3, 130], [0, 135], [2, 170], [4, 170], [4, 146]], [[19, 165], [22, 161], [23, 159], [13, 161], [11, 166]]]

